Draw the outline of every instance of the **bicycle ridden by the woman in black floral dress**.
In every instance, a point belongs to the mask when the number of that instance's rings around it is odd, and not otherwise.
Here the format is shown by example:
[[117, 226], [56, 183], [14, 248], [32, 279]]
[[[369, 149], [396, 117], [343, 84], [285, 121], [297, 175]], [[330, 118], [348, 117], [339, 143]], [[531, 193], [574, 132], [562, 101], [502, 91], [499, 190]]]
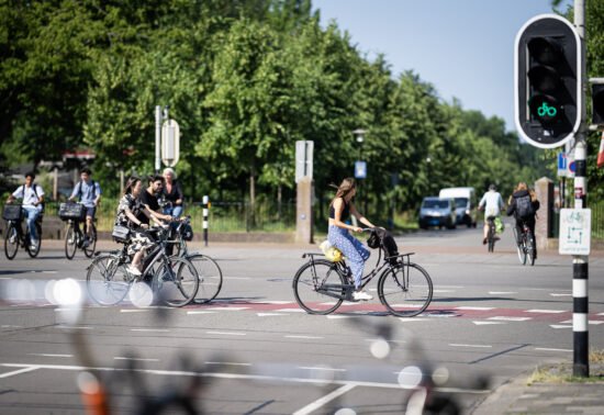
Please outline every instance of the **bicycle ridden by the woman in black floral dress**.
[[149, 234], [158, 235], [150, 236], [156, 242], [144, 260], [141, 276], [134, 276], [126, 269], [132, 261], [127, 244], [122, 249], [94, 258], [86, 277], [90, 298], [101, 305], [114, 305], [124, 300], [136, 283], [139, 289], [131, 294], [135, 305], [163, 302], [181, 307], [189, 304], [198, 292], [199, 276], [187, 258], [166, 255], [168, 232], [163, 227], [150, 229]]

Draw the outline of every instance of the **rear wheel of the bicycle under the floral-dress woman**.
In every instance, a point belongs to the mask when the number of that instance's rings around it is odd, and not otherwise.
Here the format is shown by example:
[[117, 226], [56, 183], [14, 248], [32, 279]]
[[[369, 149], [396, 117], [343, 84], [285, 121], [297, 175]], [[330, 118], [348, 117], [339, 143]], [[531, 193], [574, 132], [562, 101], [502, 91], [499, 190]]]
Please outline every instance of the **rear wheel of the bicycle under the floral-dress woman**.
[[88, 294], [101, 305], [114, 305], [124, 300], [132, 282], [125, 265], [110, 254], [96, 258], [86, 276]]

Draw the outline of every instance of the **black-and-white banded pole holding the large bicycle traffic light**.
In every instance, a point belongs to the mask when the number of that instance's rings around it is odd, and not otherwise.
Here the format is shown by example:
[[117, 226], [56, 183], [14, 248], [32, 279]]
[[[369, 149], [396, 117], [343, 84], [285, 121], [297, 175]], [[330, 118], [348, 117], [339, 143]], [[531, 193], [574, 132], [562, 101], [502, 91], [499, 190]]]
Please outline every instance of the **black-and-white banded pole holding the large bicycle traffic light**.
[[[574, 1], [574, 26], [581, 40], [581, 100], [582, 113], [581, 125], [575, 135], [574, 164], [577, 167], [574, 175], [574, 209], [585, 209], [588, 204], [588, 146], [585, 123], [585, 2], [584, 0]], [[572, 258], [572, 334], [573, 334], [573, 366], [572, 374], [575, 377], [590, 375], [589, 348], [590, 333], [588, 327], [589, 314], [589, 256], [575, 255]]]

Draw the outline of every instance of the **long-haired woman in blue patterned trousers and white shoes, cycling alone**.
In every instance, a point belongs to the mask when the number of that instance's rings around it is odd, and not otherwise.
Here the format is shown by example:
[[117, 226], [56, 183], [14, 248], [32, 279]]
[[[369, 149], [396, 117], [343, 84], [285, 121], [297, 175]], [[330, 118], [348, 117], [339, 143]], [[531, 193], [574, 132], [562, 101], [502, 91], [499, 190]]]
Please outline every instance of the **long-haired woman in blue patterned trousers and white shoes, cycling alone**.
[[372, 296], [360, 290], [362, 271], [365, 261], [369, 259], [369, 250], [362, 244], [350, 235], [349, 231], [362, 232], [358, 226], [348, 225], [345, 223], [350, 215], [354, 215], [360, 223], [369, 227], [374, 227], [365, 216], [362, 216], [353, 204], [353, 198], [357, 194], [357, 186], [355, 179], [346, 178], [337, 188], [335, 198], [329, 204], [329, 229], [327, 239], [332, 246], [335, 246], [346, 257], [353, 271], [355, 279], [355, 300], [371, 300]]

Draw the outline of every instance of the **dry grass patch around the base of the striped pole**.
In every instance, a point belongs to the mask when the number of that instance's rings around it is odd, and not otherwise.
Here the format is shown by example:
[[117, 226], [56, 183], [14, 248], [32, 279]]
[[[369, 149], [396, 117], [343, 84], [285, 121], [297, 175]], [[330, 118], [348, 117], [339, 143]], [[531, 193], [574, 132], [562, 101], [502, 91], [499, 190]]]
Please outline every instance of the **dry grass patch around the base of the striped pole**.
[[589, 355], [589, 361], [590, 375], [588, 378], [574, 377], [572, 374], [572, 363], [562, 362], [538, 367], [528, 378], [527, 384], [604, 382], [604, 350], [592, 350]]

